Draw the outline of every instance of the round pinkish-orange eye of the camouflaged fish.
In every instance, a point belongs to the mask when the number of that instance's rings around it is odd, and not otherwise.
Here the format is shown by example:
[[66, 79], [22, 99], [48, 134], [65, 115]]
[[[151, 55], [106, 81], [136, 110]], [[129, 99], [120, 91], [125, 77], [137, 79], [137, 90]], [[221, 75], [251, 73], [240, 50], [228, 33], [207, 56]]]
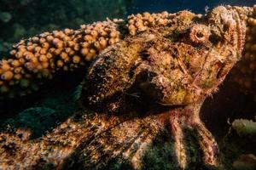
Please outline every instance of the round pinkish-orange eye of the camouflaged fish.
[[210, 37], [210, 30], [207, 26], [197, 24], [190, 29], [190, 40], [195, 43], [206, 43]]

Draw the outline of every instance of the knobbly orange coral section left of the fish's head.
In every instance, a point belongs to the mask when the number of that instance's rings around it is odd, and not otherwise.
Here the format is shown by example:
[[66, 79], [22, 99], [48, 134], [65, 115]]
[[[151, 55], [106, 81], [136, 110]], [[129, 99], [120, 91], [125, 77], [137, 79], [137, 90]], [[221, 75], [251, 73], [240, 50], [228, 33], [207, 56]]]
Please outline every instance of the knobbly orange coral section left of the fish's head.
[[83, 67], [108, 45], [119, 42], [119, 21], [96, 22], [77, 31], [44, 32], [21, 40], [10, 56], [0, 61], [0, 94], [28, 94], [38, 89], [42, 78], [51, 79], [56, 71]]

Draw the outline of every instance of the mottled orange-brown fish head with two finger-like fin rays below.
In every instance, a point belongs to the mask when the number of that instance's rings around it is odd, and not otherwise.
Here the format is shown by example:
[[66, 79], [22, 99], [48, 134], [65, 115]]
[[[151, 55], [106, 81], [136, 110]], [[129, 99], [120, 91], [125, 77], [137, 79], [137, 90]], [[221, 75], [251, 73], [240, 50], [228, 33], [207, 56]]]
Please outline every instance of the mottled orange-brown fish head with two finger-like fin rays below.
[[169, 22], [125, 37], [100, 54], [89, 70], [87, 100], [108, 111], [119, 111], [125, 95], [175, 106], [159, 117], [171, 122], [181, 167], [186, 165], [183, 127], [195, 128], [204, 161], [214, 165], [218, 146], [199, 111], [241, 58], [246, 21], [237, 9], [221, 6], [206, 16], [182, 11]]

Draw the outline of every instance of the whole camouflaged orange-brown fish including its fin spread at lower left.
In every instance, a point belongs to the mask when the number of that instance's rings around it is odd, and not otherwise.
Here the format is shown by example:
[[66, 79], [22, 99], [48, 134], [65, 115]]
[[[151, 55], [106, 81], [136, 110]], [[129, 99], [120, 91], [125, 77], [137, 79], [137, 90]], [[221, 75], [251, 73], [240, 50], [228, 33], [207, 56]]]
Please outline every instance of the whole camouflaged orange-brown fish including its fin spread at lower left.
[[[84, 156], [91, 165], [101, 167], [115, 156], [122, 156], [131, 158], [132, 166], [140, 168], [143, 151], [166, 124], [170, 125], [175, 139], [179, 167], [185, 168], [188, 161], [184, 149], [184, 127], [195, 129], [196, 139], [204, 153], [203, 161], [216, 165], [218, 147], [201, 122], [199, 111], [204, 99], [218, 89], [241, 58], [244, 17], [250, 10], [218, 7], [207, 16], [188, 11], [163, 13], [160, 14], [163, 19], [158, 21], [152, 20], [148, 14], [131, 16], [127, 26], [131, 36], [103, 50], [91, 65], [87, 77], [87, 101], [90, 105], [108, 105], [108, 99], [115, 94], [126, 94], [135, 87], [138, 94], [147, 95], [149, 100], [176, 107], [160, 114], [151, 113], [151, 116], [139, 117], [129, 113], [123, 116], [119, 113], [89, 116], [82, 122], [67, 121], [37, 141], [3, 133], [0, 166], [32, 168], [44, 160], [55, 162], [58, 167], [79, 144], [84, 143], [79, 157]], [[118, 100], [111, 109], [115, 111], [122, 102]], [[12, 142], [16, 143], [15, 156], [8, 151]], [[27, 153], [35, 154], [28, 156]]]

